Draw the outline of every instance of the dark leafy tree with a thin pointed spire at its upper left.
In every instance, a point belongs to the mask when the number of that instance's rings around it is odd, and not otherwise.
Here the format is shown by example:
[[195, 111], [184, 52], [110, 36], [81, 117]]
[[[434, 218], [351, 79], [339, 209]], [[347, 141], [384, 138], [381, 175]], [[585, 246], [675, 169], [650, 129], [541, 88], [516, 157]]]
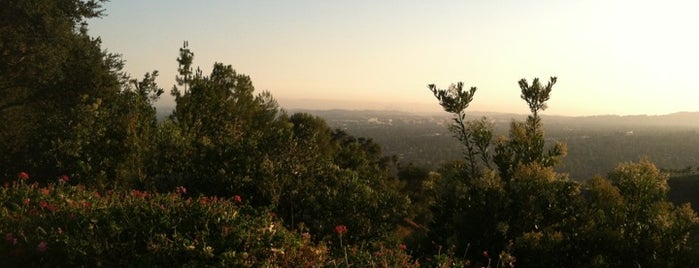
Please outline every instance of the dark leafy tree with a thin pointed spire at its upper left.
[[153, 169], [154, 185], [162, 190], [186, 185], [210, 195], [245, 193], [254, 202], [269, 202], [262, 196], [270, 188], [258, 179], [274, 173], [265, 170], [274, 168], [265, 163], [274, 162], [275, 150], [286, 148], [277, 134], [288, 127], [276, 101], [268, 92], [255, 96], [250, 77], [231, 65], [216, 63], [208, 76], [200, 69], [192, 73], [193, 56], [185, 42], [178, 58], [178, 84], [184, 90], [173, 88], [172, 123], [159, 134], [174, 144], [157, 142], [162, 151], [156, 162], [166, 173]]

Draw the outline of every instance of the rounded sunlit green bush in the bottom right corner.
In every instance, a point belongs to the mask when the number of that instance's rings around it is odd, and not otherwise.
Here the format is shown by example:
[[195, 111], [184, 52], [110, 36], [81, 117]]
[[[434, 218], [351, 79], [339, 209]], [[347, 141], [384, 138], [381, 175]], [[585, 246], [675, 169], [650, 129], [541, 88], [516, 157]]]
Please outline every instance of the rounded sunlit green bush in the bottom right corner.
[[685, 267], [698, 218], [667, 199], [667, 175], [647, 159], [621, 163], [583, 184], [582, 201], [559, 245], [563, 266]]

